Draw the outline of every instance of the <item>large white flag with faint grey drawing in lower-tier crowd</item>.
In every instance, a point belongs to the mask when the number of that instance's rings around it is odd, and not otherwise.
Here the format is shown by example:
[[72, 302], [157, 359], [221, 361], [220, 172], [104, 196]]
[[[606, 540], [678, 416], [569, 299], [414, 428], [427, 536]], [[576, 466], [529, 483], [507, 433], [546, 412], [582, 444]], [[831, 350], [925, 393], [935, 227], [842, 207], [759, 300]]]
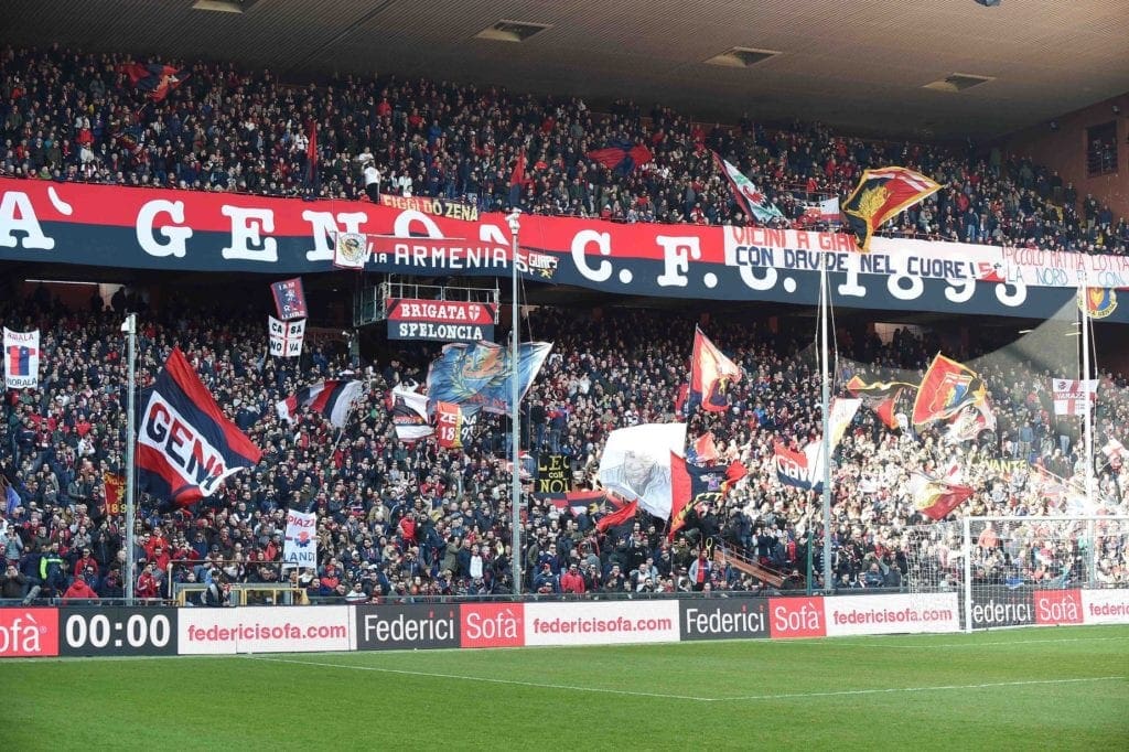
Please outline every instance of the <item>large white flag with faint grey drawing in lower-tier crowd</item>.
[[599, 484], [659, 519], [671, 516], [671, 454], [686, 444], [685, 423], [644, 423], [611, 432], [599, 457]]

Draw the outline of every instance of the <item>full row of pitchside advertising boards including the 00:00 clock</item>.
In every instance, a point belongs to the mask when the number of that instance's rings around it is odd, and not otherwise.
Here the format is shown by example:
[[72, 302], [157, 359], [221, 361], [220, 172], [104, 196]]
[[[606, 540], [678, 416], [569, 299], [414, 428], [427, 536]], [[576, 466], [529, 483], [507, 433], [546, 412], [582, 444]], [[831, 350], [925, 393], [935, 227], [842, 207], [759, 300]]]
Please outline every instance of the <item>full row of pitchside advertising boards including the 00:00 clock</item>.
[[[973, 594], [973, 628], [1126, 624], [1129, 589]], [[332, 606], [2, 607], [0, 657], [237, 655], [961, 631], [956, 593]]]

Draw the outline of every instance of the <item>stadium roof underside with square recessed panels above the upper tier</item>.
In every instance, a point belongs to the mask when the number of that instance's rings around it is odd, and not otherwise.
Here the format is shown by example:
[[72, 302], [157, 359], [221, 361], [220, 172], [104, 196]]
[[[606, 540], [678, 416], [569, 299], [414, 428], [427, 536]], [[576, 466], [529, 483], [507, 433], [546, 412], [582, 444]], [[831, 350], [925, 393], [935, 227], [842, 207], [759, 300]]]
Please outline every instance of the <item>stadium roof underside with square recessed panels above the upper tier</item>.
[[1124, 0], [8, 0], [5, 16], [19, 45], [234, 60], [292, 81], [396, 72], [925, 139], [1000, 135], [1129, 90]]

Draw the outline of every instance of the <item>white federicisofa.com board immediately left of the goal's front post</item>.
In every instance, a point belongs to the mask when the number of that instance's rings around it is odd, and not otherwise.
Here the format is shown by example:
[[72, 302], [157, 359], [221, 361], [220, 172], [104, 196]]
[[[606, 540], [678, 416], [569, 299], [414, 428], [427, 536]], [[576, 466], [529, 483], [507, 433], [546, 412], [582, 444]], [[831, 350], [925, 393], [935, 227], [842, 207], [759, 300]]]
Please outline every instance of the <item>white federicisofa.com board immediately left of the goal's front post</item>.
[[823, 614], [828, 637], [961, 631], [956, 593], [830, 597]]

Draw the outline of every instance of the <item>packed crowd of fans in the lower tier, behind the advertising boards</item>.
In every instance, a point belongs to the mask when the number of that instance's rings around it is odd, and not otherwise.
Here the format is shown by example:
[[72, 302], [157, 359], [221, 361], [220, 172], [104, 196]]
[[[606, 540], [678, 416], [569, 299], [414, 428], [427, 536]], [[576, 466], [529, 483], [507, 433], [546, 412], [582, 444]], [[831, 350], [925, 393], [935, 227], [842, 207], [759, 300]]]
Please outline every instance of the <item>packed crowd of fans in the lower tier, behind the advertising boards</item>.
[[[178, 346], [224, 411], [263, 449], [257, 466], [229, 478], [216, 497], [193, 508], [168, 511], [142, 495], [133, 551], [124, 550], [124, 517], [107, 509], [104, 488], [104, 473], [124, 470], [125, 366], [119, 327], [128, 308], [141, 312], [139, 385], [149, 385]], [[38, 390], [8, 391], [3, 401], [0, 458], [18, 502], [0, 523], [0, 550], [10, 565], [0, 597], [120, 597], [131, 559], [139, 566], [137, 593], [142, 597], [168, 597], [177, 584], [213, 582], [281, 582], [315, 601], [513, 592], [507, 421], [488, 418], [465, 451], [440, 449], [434, 439], [400, 441], [391, 423], [386, 391], [401, 382], [425, 381], [438, 346], [356, 362], [334, 343], [307, 342], [300, 360], [270, 358], [262, 355], [264, 332], [255, 312], [204, 311], [175, 297], [148, 311], [138, 296], [124, 292], [111, 306], [94, 295], [87, 309], [69, 311], [41, 287], [27, 299], [7, 301], [2, 314], [11, 329], [41, 330], [43, 365]], [[606, 309], [598, 317], [532, 313], [530, 334], [554, 347], [524, 403], [523, 444], [534, 453], [552, 448], [566, 455], [575, 486], [592, 487], [611, 430], [677, 419], [675, 396], [685, 379], [694, 323], [690, 316], [642, 311]], [[640, 515], [599, 531], [594, 515], [531, 499], [527, 489], [522, 550], [516, 552], [524, 592], [765, 587], [712, 561], [706, 551], [710, 540], [744, 549], [779, 571], [785, 589], [804, 587], [814, 543], [814, 584], [820, 585], [820, 499], [782, 484], [772, 465], [773, 441], [799, 447], [817, 438], [815, 359], [807, 342], [773, 333], [763, 322], [715, 321], [706, 327], [743, 366], [745, 377], [730, 392], [729, 410], [689, 416], [689, 436], [712, 431], [719, 462], [741, 460], [747, 478], [694, 513], [673, 542], [665, 521]], [[942, 349], [936, 338], [905, 330], [885, 342], [873, 333], [844, 330], [839, 344], [855, 358], [842, 361], [840, 377], [859, 373], [872, 378], [908, 368], [903, 377], [920, 378]], [[962, 360], [979, 355], [951, 348], [948, 343], [946, 352]], [[1071, 496], [1069, 480], [1084, 467], [1078, 419], [1052, 414], [1051, 370], [998, 356], [977, 365], [999, 422], [994, 435], [946, 445], [935, 429], [891, 430], [868, 410], [856, 417], [834, 471], [831, 535], [838, 586], [899, 587], [919, 574], [913, 570], [921, 542], [916, 526], [928, 521], [907, 491], [914, 470], [960, 463], [964, 482], [975, 489], [962, 514], [1094, 510], [1071, 506], [1077, 495]], [[279, 419], [278, 400], [341, 375], [362, 378], [369, 387], [343, 431], [312, 412], [301, 413], [295, 426]], [[1109, 438], [1126, 441], [1129, 426], [1124, 378], [1105, 374], [1102, 383], [1099, 446]], [[910, 399], [903, 395], [903, 401]], [[1014, 460], [1019, 462], [1007, 462]], [[1061, 488], [1051, 491], [1033, 482], [1029, 463], [1053, 472]], [[1126, 513], [1126, 475], [1119, 460], [1099, 469], [1097, 510]], [[317, 510], [316, 571], [279, 566], [290, 507]], [[1064, 567], [1061, 558], [1048, 563], [1048, 545], [1077, 546], [1077, 536], [1052, 543], [1039, 540], [1038, 527], [1019, 533], [1022, 541], [1001, 534], [998, 545], [978, 554], [978, 577], [998, 579], [998, 565], [1006, 566], [1008, 579], [1025, 583], [1129, 583], [1123, 534], [1111, 532], [1097, 541], [1095, 571], [1087, 572]], [[955, 574], [955, 558], [944, 561], [948, 553], [942, 548], [930, 549], [939, 557], [937, 566]]]

